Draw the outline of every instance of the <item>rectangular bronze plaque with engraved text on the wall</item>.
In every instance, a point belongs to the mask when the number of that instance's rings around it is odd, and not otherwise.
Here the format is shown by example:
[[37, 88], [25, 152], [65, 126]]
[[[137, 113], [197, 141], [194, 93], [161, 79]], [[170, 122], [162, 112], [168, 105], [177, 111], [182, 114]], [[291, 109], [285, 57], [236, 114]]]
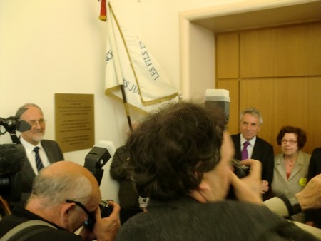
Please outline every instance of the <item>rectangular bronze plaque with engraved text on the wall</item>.
[[95, 143], [93, 94], [55, 93], [56, 141], [64, 153]]

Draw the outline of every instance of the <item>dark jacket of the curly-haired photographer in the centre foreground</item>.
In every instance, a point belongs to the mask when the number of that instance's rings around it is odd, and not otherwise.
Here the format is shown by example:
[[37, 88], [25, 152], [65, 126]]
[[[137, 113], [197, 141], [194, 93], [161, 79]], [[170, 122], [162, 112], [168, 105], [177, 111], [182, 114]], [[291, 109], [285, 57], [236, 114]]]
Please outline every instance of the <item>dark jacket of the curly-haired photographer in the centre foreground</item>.
[[317, 240], [264, 205], [223, 200], [200, 203], [192, 198], [151, 200], [148, 212], [131, 217], [116, 241]]

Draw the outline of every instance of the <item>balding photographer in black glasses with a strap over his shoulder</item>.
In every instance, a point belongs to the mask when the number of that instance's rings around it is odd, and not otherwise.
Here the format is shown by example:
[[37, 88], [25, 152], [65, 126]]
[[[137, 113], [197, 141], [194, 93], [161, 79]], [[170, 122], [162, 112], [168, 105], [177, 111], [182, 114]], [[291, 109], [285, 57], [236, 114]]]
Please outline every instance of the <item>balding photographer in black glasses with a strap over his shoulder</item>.
[[[1, 220], [0, 237], [21, 223], [36, 220], [36, 225], [24, 228], [11, 240], [24, 233], [31, 236], [28, 240], [36, 241], [113, 240], [120, 226], [120, 207], [111, 201], [113, 212], [101, 218], [100, 201], [101, 191], [90, 171], [70, 161], [54, 163], [36, 176], [26, 208], [18, 206], [13, 215]], [[83, 227], [80, 235], [74, 234], [85, 221], [94, 222], [93, 229]]]

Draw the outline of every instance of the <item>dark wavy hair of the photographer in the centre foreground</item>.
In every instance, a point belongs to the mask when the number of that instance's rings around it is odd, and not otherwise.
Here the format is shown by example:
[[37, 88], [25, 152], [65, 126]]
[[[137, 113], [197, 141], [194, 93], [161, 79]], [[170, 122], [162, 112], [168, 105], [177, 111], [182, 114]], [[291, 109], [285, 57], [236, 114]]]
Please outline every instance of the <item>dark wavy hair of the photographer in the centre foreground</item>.
[[148, 116], [126, 144], [138, 194], [171, 200], [195, 190], [220, 160], [224, 128], [196, 103], [175, 103]]

